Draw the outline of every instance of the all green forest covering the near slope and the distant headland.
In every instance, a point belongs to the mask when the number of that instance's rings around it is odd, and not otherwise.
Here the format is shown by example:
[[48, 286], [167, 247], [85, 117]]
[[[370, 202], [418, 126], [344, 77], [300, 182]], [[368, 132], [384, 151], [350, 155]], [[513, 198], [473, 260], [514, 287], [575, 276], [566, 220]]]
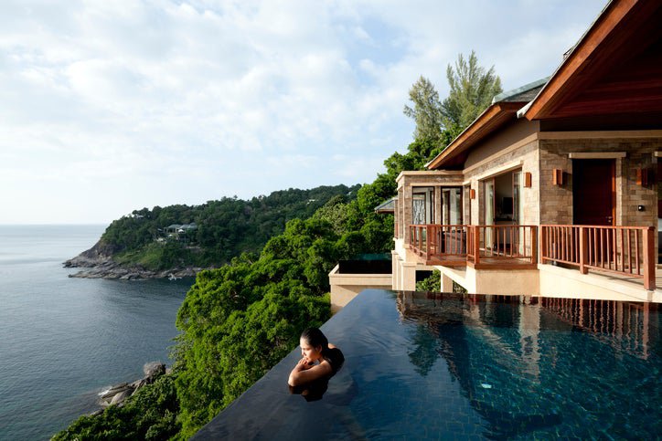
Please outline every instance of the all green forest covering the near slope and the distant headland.
[[[432, 84], [428, 81], [423, 86]], [[489, 102], [479, 98], [477, 102]], [[429, 101], [442, 115], [439, 100]], [[443, 120], [440, 116], [434, 121]], [[200, 207], [144, 209], [113, 222], [103, 240], [107, 247], [122, 251], [118, 258], [127, 261], [147, 266], [193, 258], [177, 254], [184, 252], [181, 249], [154, 243], [155, 228], [189, 222], [198, 224], [196, 240], [210, 250], [209, 256], [237, 257], [220, 268], [198, 273], [188, 291], [176, 319], [182, 334], [177, 339], [173, 373], [145, 386], [140, 391], [143, 395], [135, 395], [144, 399], [131, 397], [122, 408], [111, 406], [99, 416], [83, 416], [55, 439], [187, 439], [260, 379], [294, 349], [305, 327], [330, 317], [327, 275], [339, 259], [390, 250], [393, 216], [376, 215], [374, 207], [396, 194], [395, 178], [401, 171], [423, 170], [452, 135], [446, 127], [437, 131], [417, 127], [416, 133], [420, 136], [407, 152], [391, 154], [384, 162], [386, 172], [358, 189], [356, 198], [345, 197], [344, 190], [328, 192], [327, 197], [318, 198], [326, 201], [324, 205], [304, 206], [299, 198], [290, 209], [256, 214], [256, 206], [278, 206], [269, 198], [287, 198], [292, 191], [276, 192], [251, 202], [223, 199]], [[254, 229], [243, 226], [247, 222]], [[249, 230], [252, 237], [247, 237]], [[262, 251], [261, 244], [266, 244]], [[239, 254], [238, 250], [252, 252]], [[439, 283], [439, 274], [435, 277]], [[422, 289], [436, 288], [432, 278], [422, 283]], [[424, 371], [428, 355], [412, 352], [411, 358]]]

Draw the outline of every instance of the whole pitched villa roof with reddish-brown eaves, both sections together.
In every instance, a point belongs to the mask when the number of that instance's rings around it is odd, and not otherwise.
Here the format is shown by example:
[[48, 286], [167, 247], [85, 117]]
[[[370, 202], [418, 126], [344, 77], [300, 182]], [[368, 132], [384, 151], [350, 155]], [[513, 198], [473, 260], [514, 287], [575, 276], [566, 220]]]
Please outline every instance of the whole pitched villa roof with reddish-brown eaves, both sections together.
[[517, 117], [632, 119], [646, 114], [650, 121], [662, 121], [660, 23], [662, 2], [609, 2], [549, 79], [497, 95], [427, 168], [462, 166], [472, 146]]

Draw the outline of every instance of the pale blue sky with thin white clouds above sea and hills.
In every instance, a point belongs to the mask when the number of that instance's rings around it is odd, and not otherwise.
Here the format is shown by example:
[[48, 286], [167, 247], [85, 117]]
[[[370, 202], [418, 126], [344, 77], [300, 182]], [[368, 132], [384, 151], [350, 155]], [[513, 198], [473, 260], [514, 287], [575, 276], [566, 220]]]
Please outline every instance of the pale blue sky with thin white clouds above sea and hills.
[[551, 75], [606, 0], [0, 1], [0, 224], [366, 184], [421, 75]]

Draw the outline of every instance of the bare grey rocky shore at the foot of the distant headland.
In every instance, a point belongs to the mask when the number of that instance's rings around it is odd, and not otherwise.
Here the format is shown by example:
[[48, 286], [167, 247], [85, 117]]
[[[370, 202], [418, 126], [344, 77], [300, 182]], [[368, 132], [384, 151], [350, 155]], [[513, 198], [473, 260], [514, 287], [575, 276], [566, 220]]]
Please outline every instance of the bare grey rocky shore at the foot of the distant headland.
[[169, 268], [152, 270], [141, 265], [123, 265], [112, 258], [113, 249], [103, 247], [101, 241], [80, 255], [64, 262], [65, 268], [80, 268], [69, 274], [70, 278], [110, 278], [122, 280], [143, 280], [148, 278], [185, 278], [193, 277], [203, 268]]

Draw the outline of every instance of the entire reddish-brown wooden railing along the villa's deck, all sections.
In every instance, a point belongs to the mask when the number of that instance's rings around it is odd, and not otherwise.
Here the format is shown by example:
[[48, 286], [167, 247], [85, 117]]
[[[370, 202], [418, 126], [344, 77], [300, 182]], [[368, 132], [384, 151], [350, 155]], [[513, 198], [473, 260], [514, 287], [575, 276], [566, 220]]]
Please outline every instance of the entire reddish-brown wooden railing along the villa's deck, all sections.
[[[537, 264], [642, 278], [655, 289], [655, 231], [646, 226], [411, 225], [409, 247], [428, 265], [530, 268]], [[539, 242], [539, 247], [538, 247]]]

